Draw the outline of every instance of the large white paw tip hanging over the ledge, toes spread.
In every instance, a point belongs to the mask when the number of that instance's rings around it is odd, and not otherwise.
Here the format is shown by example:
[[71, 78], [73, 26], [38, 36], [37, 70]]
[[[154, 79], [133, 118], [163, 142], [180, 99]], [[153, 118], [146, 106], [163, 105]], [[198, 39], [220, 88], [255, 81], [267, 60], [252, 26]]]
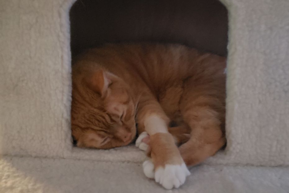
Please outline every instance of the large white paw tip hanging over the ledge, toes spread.
[[156, 182], [160, 183], [164, 188], [170, 190], [178, 188], [185, 183], [186, 177], [190, 175], [186, 164], [172, 165], [166, 164], [165, 167], [159, 167], [154, 174]]

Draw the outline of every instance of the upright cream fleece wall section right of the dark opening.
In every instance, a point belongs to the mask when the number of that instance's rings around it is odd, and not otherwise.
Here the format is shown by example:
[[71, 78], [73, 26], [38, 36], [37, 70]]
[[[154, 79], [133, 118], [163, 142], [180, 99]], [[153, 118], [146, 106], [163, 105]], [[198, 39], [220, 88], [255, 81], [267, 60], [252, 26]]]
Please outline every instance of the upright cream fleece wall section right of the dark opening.
[[289, 1], [224, 0], [229, 10], [227, 158], [289, 164]]

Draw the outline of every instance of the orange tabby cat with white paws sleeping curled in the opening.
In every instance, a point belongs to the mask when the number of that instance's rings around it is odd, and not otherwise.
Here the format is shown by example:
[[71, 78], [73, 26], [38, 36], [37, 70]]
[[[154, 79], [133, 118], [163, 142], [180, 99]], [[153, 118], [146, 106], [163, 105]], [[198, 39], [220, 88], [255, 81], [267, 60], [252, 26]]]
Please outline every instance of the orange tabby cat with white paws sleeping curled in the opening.
[[183, 45], [87, 50], [72, 66], [77, 146], [124, 146], [138, 130], [136, 145], [150, 157], [144, 174], [167, 189], [181, 186], [190, 174], [186, 166], [225, 144], [225, 66], [226, 58]]

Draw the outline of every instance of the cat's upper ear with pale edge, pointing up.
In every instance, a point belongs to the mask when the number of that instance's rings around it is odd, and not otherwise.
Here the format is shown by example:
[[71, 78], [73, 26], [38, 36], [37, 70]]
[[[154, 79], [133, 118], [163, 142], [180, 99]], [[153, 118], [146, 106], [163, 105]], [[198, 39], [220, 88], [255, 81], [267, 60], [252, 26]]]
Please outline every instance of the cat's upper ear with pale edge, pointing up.
[[109, 85], [112, 83], [109, 74], [103, 69], [96, 70], [87, 79], [88, 86], [94, 92], [97, 92], [100, 96], [104, 97], [107, 93]]

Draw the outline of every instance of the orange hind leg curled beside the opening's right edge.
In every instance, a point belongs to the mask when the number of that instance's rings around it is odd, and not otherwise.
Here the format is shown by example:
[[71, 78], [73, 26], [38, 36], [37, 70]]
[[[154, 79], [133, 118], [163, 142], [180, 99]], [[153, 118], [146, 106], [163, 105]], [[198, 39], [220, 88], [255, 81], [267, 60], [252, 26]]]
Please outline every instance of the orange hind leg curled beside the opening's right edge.
[[226, 142], [225, 77], [222, 73], [187, 79], [180, 111], [191, 128], [191, 137], [179, 150], [187, 166], [196, 165], [214, 155]]

